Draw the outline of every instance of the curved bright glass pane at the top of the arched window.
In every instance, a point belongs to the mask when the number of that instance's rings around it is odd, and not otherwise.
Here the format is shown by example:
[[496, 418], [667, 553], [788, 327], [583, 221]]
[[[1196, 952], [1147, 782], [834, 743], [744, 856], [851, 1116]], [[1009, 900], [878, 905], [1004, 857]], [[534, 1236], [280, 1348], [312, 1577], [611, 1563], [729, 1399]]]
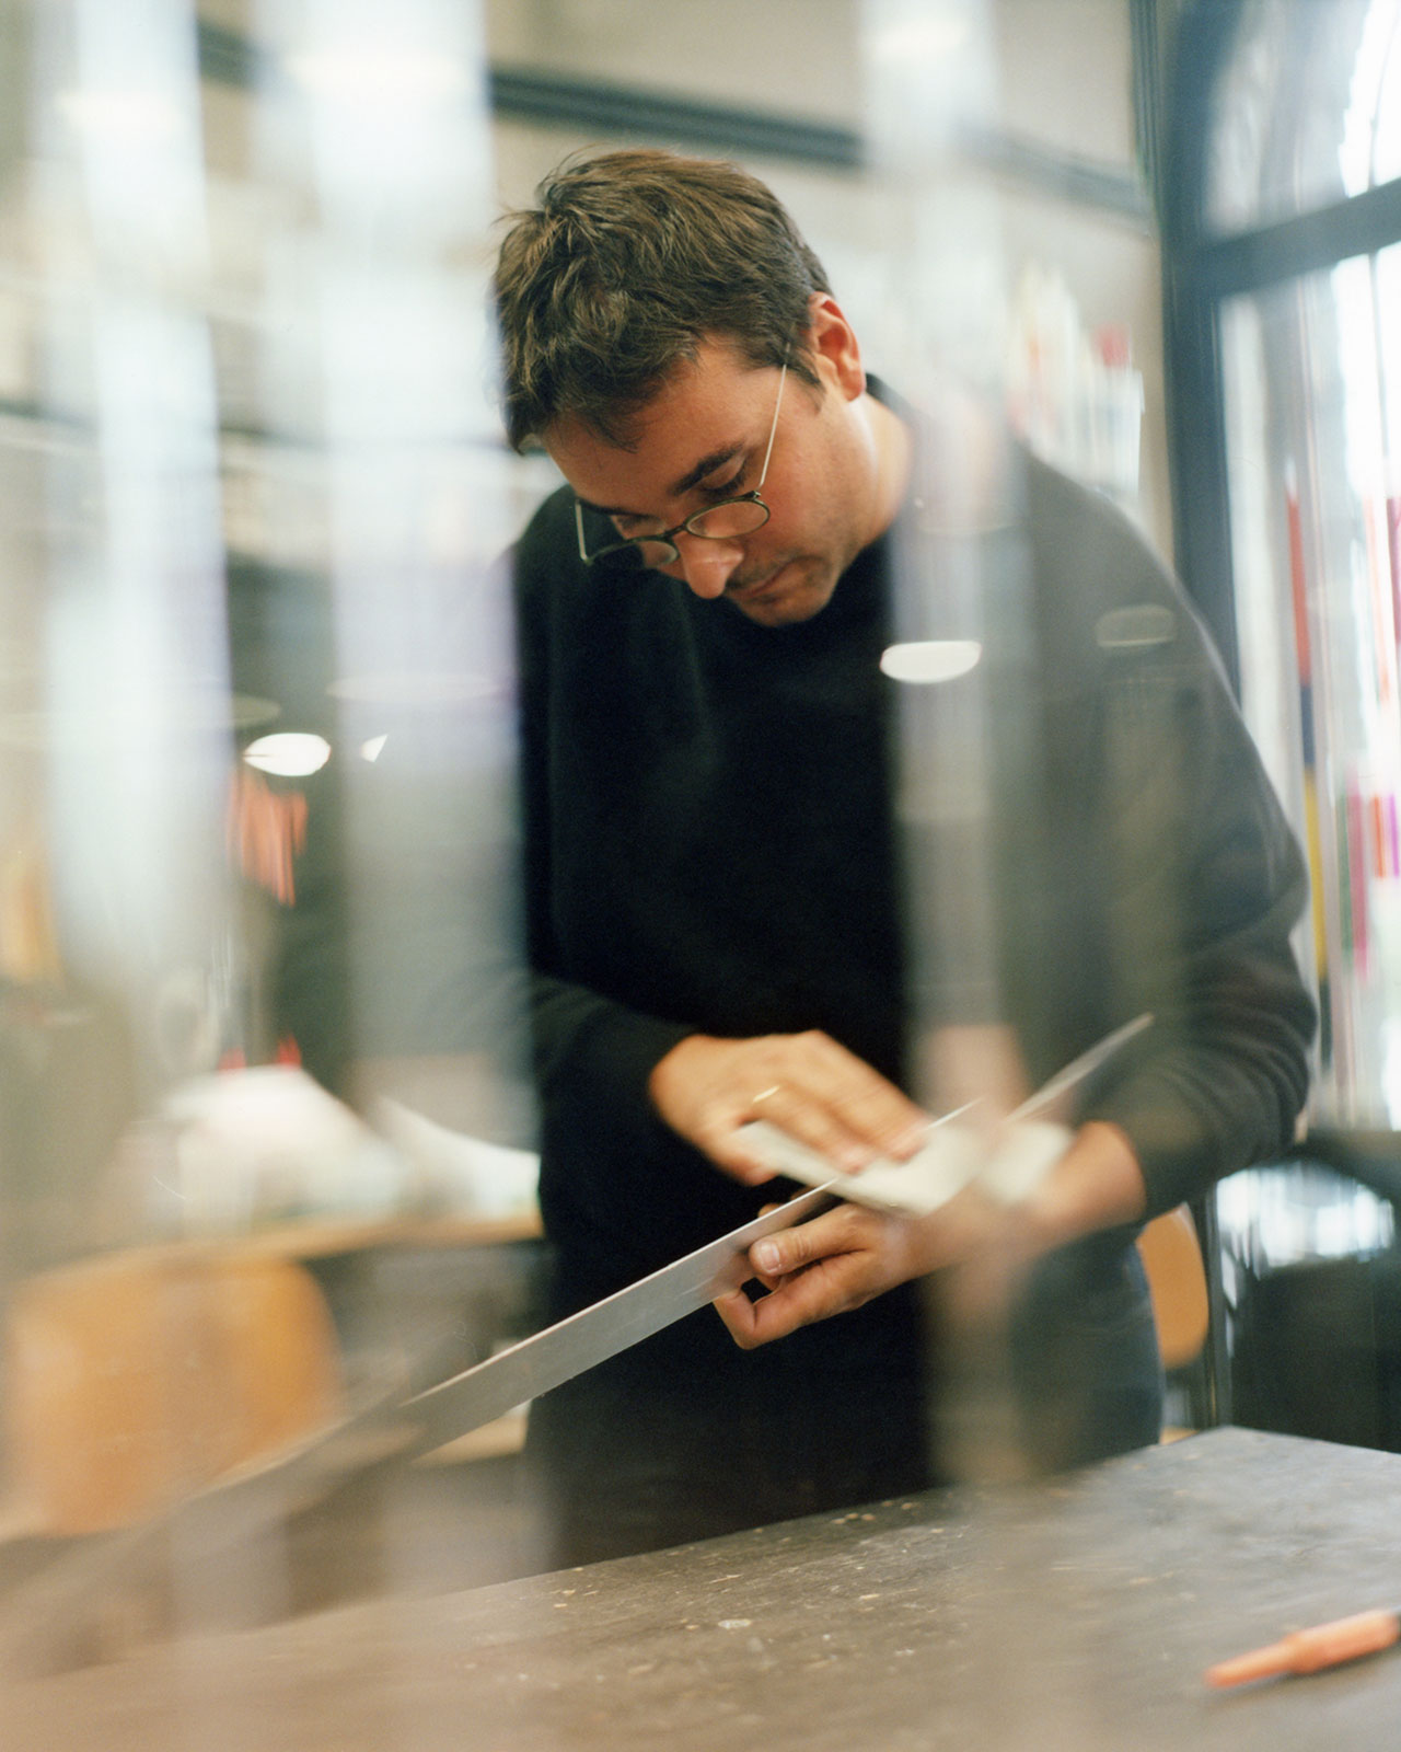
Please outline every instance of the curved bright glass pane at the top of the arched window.
[[1401, 177], [1401, 0], [1243, 0], [1210, 114], [1217, 235]]

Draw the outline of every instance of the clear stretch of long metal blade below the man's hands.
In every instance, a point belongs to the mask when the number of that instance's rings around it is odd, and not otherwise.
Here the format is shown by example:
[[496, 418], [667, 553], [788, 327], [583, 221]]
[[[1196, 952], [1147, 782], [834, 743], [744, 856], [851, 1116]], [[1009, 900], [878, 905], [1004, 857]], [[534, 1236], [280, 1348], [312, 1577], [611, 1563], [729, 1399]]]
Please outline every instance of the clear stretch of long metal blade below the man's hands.
[[832, 1204], [834, 1195], [825, 1186], [816, 1186], [664, 1265], [660, 1272], [641, 1277], [627, 1289], [522, 1339], [485, 1363], [413, 1395], [405, 1402], [405, 1412], [419, 1426], [415, 1451], [422, 1454], [441, 1447], [650, 1339], [727, 1289], [737, 1289], [753, 1275], [744, 1254], [757, 1240], [792, 1228]]

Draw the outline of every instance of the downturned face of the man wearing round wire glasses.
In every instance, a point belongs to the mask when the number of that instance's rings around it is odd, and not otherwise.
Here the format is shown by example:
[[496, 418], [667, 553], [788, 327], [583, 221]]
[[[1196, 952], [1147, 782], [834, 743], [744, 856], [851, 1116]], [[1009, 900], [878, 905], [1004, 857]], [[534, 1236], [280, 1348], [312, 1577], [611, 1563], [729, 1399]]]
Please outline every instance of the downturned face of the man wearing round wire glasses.
[[[881, 533], [860, 361], [830, 300], [814, 307], [813, 349], [821, 387], [790, 370], [783, 389], [764, 480], [769, 522], [725, 540], [681, 531], [672, 538], [681, 557], [660, 568], [765, 627], [820, 613]], [[776, 368], [757, 370], [732, 342], [713, 338], [643, 408], [634, 447], [559, 420], [545, 433], [545, 449], [585, 508], [608, 512], [622, 536], [669, 529], [758, 485], [778, 392]]]

